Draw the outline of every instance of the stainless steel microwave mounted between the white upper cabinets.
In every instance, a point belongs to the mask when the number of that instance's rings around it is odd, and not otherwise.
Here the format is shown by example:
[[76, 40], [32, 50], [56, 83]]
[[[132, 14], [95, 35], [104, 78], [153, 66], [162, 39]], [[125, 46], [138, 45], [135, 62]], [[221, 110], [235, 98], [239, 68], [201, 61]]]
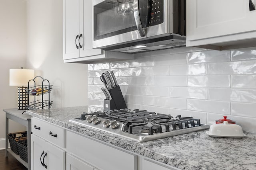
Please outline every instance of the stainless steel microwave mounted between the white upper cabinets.
[[96, 49], [123, 53], [182, 47], [185, 0], [94, 0]]

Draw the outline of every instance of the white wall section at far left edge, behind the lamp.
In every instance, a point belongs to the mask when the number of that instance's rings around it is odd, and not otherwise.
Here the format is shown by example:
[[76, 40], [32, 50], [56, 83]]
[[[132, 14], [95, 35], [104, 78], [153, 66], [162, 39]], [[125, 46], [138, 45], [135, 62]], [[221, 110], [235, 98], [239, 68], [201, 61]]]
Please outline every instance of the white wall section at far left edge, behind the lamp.
[[[5, 113], [18, 108], [18, 87], [9, 86], [9, 69], [26, 68], [26, 1], [0, 0], [0, 149], [5, 146]], [[10, 132], [25, 127], [10, 121]]]

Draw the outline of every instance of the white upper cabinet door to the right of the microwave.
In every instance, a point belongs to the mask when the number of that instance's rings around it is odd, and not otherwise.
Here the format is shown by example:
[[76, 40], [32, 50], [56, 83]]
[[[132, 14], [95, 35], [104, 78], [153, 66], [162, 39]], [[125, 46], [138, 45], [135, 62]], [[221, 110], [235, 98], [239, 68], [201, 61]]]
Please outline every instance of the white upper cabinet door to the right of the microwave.
[[249, 10], [249, 0], [187, 0], [186, 13], [187, 41], [256, 30], [256, 10]]

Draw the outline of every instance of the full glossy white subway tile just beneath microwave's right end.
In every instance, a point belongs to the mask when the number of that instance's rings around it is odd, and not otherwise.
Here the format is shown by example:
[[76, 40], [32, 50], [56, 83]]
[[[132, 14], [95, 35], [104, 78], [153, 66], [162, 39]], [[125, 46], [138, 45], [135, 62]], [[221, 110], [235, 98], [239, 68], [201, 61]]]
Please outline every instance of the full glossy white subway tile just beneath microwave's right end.
[[186, 53], [155, 57], [155, 65], [156, 66], [186, 64], [186, 63], [187, 63]]

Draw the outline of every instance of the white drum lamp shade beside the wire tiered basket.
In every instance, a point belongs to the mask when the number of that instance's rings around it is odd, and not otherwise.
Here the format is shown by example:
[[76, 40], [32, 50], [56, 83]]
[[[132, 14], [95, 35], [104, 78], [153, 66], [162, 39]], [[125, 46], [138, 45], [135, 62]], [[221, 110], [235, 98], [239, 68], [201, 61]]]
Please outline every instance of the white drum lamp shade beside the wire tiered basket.
[[10, 69], [10, 86], [27, 86], [28, 81], [33, 78], [32, 69]]

